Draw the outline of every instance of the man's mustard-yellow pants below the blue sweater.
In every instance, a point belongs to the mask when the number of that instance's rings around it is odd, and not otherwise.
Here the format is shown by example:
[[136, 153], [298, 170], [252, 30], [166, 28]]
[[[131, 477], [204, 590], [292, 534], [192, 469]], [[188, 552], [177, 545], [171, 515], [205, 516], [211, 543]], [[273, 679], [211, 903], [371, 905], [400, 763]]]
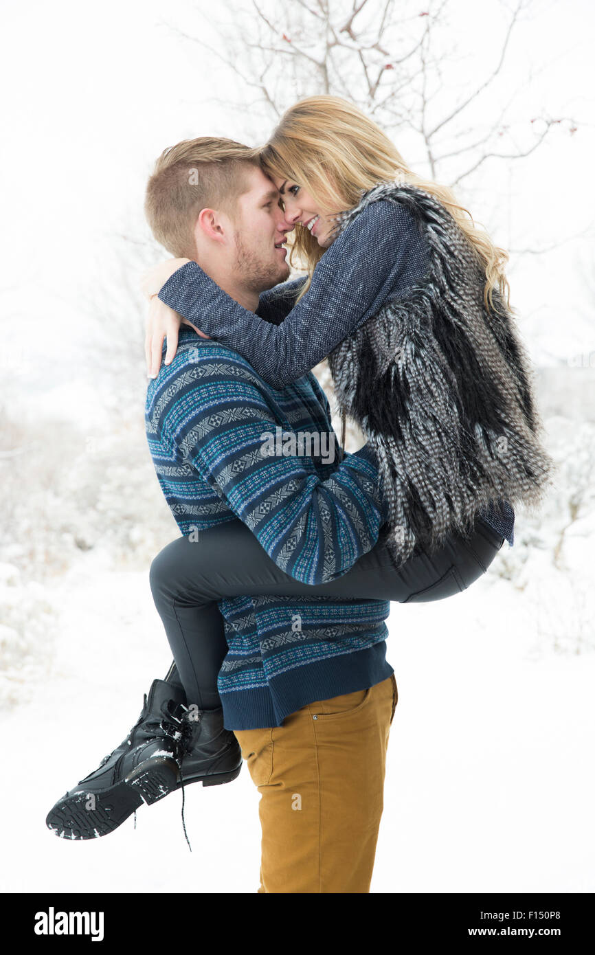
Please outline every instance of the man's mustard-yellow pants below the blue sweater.
[[397, 698], [393, 674], [234, 731], [261, 794], [258, 892], [370, 892]]

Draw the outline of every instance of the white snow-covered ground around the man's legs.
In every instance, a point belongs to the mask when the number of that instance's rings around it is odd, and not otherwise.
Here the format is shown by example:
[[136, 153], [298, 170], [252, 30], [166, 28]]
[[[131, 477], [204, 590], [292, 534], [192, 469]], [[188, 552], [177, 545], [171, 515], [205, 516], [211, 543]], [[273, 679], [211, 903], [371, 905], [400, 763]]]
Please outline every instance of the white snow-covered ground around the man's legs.
[[[561, 599], [550, 592], [546, 608]], [[52, 603], [48, 672], [2, 719], [3, 890], [256, 892], [259, 796], [245, 766], [227, 786], [188, 787], [192, 853], [180, 793], [142, 806], [136, 830], [131, 817], [71, 842], [46, 828], [55, 799], [126, 735], [170, 662], [146, 572], [114, 571], [88, 552]], [[556, 649], [536, 607], [495, 564], [451, 600], [393, 605], [399, 702], [372, 892], [595, 889], [595, 653], [580, 642]]]

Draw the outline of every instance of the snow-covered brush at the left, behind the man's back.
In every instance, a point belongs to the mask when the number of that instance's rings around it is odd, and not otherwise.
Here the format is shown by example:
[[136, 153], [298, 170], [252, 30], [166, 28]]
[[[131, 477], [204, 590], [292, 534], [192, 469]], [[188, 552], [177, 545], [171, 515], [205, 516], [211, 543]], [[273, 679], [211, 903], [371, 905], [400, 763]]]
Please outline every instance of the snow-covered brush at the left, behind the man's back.
[[[48, 675], [69, 568], [148, 568], [179, 531], [163, 499], [141, 419], [82, 435], [61, 421], [4, 413], [0, 457], [0, 706]], [[63, 596], [60, 598], [63, 601]]]

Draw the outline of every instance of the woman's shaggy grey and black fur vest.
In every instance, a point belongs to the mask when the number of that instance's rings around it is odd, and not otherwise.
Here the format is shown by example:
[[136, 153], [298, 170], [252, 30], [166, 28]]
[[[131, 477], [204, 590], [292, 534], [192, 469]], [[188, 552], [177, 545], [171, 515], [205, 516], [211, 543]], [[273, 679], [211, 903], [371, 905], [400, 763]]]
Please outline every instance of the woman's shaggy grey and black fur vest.
[[400, 564], [451, 532], [468, 534], [490, 500], [534, 507], [551, 481], [533, 383], [515, 318], [446, 207], [411, 184], [380, 182], [370, 202], [401, 202], [421, 224], [430, 267], [329, 354], [343, 415], [380, 463], [389, 521], [381, 540]]

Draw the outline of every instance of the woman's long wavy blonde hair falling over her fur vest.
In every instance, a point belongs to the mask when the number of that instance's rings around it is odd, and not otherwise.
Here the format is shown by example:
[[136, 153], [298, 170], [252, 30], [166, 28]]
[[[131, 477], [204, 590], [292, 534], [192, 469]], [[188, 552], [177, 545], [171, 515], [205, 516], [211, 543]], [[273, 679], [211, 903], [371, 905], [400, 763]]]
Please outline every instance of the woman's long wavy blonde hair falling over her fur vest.
[[[471, 213], [457, 202], [448, 186], [415, 175], [380, 127], [348, 100], [339, 96], [308, 96], [295, 103], [263, 146], [260, 160], [268, 176], [297, 182], [330, 214], [357, 205], [363, 192], [380, 181], [396, 179], [431, 193], [451, 213], [477, 252], [485, 269], [486, 308], [493, 305], [495, 287], [507, 308], [511, 308], [510, 286], [504, 274], [508, 253], [476, 226]], [[314, 266], [325, 249], [303, 225], [296, 226], [289, 247], [289, 264], [308, 270], [301, 298], [308, 291]]]

